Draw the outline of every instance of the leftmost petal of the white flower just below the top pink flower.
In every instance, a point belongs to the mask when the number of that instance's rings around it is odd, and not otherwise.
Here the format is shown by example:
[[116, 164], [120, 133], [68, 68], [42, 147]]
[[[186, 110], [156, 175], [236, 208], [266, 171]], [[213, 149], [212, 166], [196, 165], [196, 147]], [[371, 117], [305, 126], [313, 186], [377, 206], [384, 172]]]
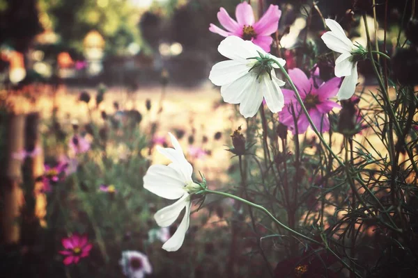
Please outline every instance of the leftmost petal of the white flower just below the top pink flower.
[[249, 60], [225, 60], [215, 64], [210, 70], [209, 79], [217, 86], [229, 84], [248, 73]]

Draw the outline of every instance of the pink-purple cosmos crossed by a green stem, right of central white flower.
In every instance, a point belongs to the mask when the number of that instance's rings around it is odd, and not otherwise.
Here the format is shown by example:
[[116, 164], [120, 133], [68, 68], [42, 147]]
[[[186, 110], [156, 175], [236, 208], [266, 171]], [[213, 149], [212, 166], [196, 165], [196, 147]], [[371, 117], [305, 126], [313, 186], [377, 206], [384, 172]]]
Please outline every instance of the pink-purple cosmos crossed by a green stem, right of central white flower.
[[[332, 111], [332, 108], [341, 108], [341, 106], [328, 99], [334, 97], [338, 92], [341, 78], [334, 77], [316, 88], [316, 81], [312, 78], [308, 79], [306, 74], [298, 68], [289, 70], [289, 76], [291, 76], [293, 83], [295, 83], [300, 97], [302, 97], [304, 102], [304, 106], [307, 108], [309, 116], [311, 116], [316, 128], [321, 132], [329, 131], [330, 120], [328, 119], [327, 113]], [[309, 122], [297, 102], [295, 92], [293, 90], [283, 89], [283, 95], [285, 107], [279, 113], [279, 122], [286, 124], [293, 134], [296, 133], [292, 114], [293, 106], [293, 111], [295, 111], [295, 117], [297, 119], [297, 133], [304, 133], [307, 131]]]

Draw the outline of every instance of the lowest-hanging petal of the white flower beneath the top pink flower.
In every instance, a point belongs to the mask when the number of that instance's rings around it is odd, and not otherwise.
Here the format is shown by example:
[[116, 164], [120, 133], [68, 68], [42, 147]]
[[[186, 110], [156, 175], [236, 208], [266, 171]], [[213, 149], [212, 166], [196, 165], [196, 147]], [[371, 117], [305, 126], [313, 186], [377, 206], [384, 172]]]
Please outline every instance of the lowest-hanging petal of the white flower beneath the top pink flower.
[[[254, 74], [255, 75], [255, 74]], [[244, 117], [253, 117], [263, 102], [263, 92], [260, 81], [256, 78], [249, 84], [240, 104], [240, 113]]]

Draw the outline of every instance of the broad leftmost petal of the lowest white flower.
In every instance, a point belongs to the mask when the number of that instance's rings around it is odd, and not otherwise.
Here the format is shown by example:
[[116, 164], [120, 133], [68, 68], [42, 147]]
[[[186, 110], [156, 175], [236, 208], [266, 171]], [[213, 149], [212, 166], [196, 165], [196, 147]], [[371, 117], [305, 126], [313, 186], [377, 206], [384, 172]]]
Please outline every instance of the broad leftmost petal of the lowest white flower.
[[166, 165], [151, 165], [144, 176], [144, 188], [166, 199], [178, 199], [185, 194], [183, 174]]

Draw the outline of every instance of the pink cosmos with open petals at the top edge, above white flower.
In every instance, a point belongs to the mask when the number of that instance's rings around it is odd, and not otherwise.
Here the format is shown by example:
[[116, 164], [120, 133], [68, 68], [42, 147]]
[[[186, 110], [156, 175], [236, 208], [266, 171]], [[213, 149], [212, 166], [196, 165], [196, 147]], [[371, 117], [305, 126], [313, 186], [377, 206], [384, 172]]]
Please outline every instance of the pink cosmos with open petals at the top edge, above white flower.
[[251, 5], [247, 2], [242, 2], [235, 9], [236, 21], [229, 16], [224, 8], [220, 8], [217, 13], [219, 23], [224, 26], [226, 31], [212, 23], [209, 31], [224, 37], [236, 35], [243, 40], [251, 40], [264, 51], [270, 52], [270, 44], [273, 42], [271, 34], [277, 31], [280, 16], [281, 10], [279, 10], [279, 6], [270, 5], [263, 17], [258, 22], [255, 22]]

